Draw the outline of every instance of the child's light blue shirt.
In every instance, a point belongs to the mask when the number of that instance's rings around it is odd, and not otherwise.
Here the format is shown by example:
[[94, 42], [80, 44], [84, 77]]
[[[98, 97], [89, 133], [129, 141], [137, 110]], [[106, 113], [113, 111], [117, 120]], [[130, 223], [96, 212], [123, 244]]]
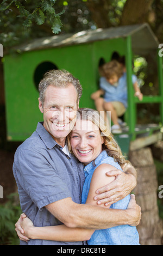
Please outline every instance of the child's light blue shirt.
[[[137, 77], [135, 75], [132, 76], [132, 81], [135, 83], [137, 81]], [[118, 86], [112, 86], [108, 81], [106, 81], [105, 77], [101, 77], [99, 80], [99, 86], [104, 90], [104, 100], [106, 102], [110, 101], [120, 101], [123, 103], [124, 107], [127, 108], [127, 74], [124, 72], [123, 76], [118, 80]]]

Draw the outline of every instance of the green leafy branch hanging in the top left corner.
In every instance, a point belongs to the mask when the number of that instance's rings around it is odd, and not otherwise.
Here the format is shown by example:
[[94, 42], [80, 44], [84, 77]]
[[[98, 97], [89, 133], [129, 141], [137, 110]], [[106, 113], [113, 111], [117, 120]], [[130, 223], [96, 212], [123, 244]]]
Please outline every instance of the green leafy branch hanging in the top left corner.
[[54, 4], [56, 0], [41, 0], [37, 7], [31, 12], [27, 10], [20, 1], [17, 0], [3, 0], [0, 4], [0, 11], [7, 10], [12, 4], [15, 4], [20, 15], [17, 17], [23, 18], [23, 26], [30, 27], [33, 22], [37, 25], [48, 23], [51, 26], [52, 32], [58, 34], [61, 31], [62, 23], [60, 16], [64, 13], [64, 10], [56, 14]]

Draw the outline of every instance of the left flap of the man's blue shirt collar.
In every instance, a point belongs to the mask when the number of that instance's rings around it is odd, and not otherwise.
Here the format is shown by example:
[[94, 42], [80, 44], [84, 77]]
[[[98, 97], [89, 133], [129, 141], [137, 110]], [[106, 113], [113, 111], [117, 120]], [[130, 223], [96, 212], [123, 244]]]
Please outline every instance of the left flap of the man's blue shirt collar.
[[50, 135], [50, 133], [43, 127], [43, 122], [39, 122], [37, 124], [36, 132], [48, 149], [52, 149], [55, 145], [58, 145], [57, 142]]

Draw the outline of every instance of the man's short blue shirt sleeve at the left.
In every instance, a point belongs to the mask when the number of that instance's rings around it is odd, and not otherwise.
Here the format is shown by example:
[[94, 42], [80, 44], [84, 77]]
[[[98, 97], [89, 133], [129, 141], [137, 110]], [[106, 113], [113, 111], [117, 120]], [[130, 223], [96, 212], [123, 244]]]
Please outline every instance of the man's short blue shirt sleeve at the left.
[[18, 182], [40, 210], [45, 205], [71, 197], [67, 185], [43, 154], [21, 150], [16, 155], [15, 166]]

